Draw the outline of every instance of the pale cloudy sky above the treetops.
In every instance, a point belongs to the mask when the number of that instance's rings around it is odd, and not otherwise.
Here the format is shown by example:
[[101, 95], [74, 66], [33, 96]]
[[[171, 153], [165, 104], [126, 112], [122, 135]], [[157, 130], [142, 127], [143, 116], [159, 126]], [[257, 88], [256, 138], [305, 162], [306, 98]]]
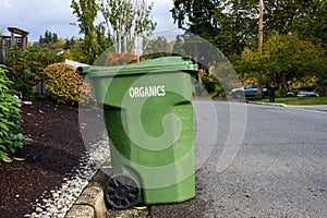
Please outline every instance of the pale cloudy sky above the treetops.
[[[181, 33], [169, 12], [172, 0], [147, 1], [154, 2], [155, 35], [169, 38]], [[29, 41], [37, 41], [46, 31], [62, 38], [78, 36], [80, 28], [70, 25], [76, 21], [70, 4], [71, 0], [0, 0], [0, 31], [9, 35], [8, 27], [21, 28], [29, 33]]]

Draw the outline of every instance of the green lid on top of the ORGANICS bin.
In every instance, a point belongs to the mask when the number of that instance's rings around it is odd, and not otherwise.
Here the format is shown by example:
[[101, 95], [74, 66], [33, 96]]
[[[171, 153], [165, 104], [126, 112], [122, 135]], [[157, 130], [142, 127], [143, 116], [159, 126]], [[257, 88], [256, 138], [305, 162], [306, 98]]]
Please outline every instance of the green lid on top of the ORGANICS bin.
[[190, 58], [164, 57], [118, 66], [90, 66], [89, 77], [120, 76], [146, 73], [162, 73], [175, 71], [198, 71], [198, 65], [194, 64]]

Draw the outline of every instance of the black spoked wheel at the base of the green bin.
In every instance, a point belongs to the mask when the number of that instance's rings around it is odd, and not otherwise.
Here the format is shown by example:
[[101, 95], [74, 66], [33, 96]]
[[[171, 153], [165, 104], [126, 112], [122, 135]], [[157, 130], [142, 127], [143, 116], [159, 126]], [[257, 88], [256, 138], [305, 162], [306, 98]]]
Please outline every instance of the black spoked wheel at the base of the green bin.
[[141, 196], [138, 182], [129, 174], [112, 175], [105, 186], [105, 201], [116, 209], [128, 209], [135, 205]]

